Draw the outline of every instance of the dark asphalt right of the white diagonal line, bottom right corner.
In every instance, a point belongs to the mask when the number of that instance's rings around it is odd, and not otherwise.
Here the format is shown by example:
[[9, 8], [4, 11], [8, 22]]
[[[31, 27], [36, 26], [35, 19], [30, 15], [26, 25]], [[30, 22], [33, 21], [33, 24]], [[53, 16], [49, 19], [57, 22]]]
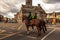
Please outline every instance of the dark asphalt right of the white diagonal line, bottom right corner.
[[60, 29], [56, 29], [53, 33], [51, 33], [45, 40], [60, 40]]

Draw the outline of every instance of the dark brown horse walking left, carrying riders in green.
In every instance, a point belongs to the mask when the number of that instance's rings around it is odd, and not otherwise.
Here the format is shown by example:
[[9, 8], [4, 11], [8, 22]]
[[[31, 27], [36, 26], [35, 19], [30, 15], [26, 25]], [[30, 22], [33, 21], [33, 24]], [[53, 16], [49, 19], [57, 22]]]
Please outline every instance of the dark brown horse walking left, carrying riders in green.
[[34, 29], [33, 26], [36, 26], [37, 31], [38, 31], [38, 35], [41, 34], [41, 29], [43, 29], [44, 33], [45, 33], [45, 30], [47, 30], [44, 20], [32, 19], [29, 23], [29, 20], [27, 19], [27, 16], [22, 15], [22, 21], [24, 21], [24, 20], [25, 20], [25, 25], [26, 25], [27, 31], [29, 31], [29, 26], [31, 26], [32, 29]]

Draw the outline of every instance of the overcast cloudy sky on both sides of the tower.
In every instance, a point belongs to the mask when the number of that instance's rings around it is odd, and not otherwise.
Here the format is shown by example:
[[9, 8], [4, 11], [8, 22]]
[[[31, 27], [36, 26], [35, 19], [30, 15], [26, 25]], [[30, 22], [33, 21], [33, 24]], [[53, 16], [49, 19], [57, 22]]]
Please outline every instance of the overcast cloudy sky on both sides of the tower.
[[[60, 11], [60, 0], [32, 0], [33, 6], [41, 4], [46, 12]], [[25, 0], [0, 0], [0, 14], [12, 18], [20, 11], [21, 5]]]

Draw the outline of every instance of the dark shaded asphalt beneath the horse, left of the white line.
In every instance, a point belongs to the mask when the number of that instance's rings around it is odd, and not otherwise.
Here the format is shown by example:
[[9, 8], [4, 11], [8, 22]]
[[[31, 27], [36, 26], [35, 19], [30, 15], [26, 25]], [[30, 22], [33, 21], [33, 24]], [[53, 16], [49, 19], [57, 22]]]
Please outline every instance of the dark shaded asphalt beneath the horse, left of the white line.
[[41, 33], [41, 36], [37, 37], [37, 32], [30, 32], [30, 35], [26, 34], [26, 31], [22, 31], [14, 36], [4, 38], [3, 40], [41, 40], [45, 35], [47, 35], [53, 29], [48, 28], [48, 31], [44, 34]]

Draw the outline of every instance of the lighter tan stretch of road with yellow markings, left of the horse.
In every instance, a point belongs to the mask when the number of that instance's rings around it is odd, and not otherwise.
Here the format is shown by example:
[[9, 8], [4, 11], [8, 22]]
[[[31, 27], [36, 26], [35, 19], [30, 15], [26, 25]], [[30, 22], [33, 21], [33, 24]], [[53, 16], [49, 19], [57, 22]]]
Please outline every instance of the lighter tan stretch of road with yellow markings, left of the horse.
[[13, 36], [20, 30], [21, 24], [0, 22], [0, 40]]

